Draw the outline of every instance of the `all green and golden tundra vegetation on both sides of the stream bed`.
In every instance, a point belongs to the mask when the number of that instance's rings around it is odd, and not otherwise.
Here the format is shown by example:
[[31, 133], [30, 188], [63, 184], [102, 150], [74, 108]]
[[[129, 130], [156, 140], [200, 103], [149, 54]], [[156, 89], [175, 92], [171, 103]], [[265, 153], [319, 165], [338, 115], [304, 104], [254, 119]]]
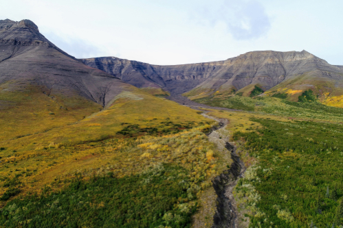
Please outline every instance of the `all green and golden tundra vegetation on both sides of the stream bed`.
[[[2, 99], [27, 109], [20, 105], [25, 94], [36, 96], [27, 90]], [[74, 115], [74, 122], [63, 122], [72, 105], [42, 96], [43, 107], [32, 103], [29, 112], [47, 122], [30, 130], [39, 120], [27, 118], [23, 135], [9, 130], [15, 112], [2, 106], [0, 227], [192, 227], [199, 217], [210, 227], [215, 203], [208, 202], [217, 197], [211, 180], [230, 168], [227, 151], [206, 136], [215, 123], [137, 91], [103, 110], [87, 107], [93, 114]], [[230, 121], [225, 132], [247, 166], [234, 189], [240, 222], [340, 227], [342, 109], [321, 104], [309, 90], [299, 102], [260, 92], [198, 100], [245, 110], [207, 110]], [[49, 129], [50, 121], [57, 124]]]

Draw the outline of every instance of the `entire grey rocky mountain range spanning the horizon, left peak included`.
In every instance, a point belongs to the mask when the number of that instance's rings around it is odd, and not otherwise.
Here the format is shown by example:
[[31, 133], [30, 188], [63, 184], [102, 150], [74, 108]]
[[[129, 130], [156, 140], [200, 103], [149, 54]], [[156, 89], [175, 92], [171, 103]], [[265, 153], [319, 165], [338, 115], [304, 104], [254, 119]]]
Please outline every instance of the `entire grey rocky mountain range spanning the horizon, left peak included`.
[[173, 66], [115, 57], [77, 60], [49, 42], [32, 21], [9, 19], [0, 21], [0, 49], [0, 84], [30, 81], [46, 94], [77, 94], [102, 106], [129, 84], [153, 94], [184, 94], [190, 99], [249, 96], [254, 86], [294, 101], [308, 89], [324, 103], [343, 95], [343, 66], [307, 51], [252, 51], [223, 61]]

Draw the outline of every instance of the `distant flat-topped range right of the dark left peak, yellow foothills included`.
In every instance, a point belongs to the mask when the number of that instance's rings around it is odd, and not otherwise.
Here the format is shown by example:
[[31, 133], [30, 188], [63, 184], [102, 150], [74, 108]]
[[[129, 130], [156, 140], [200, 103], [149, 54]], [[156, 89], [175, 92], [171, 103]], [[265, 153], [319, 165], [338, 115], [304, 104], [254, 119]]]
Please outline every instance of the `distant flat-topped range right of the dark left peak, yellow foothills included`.
[[191, 99], [216, 92], [249, 95], [254, 86], [269, 92], [282, 91], [290, 94], [291, 99], [312, 89], [327, 99], [341, 95], [343, 88], [343, 66], [333, 66], [307, 51], [252, 51], [224, 61], [175, 66], [115, 57], [88, 58], [82, 62], [138, 88], [162, 88]]

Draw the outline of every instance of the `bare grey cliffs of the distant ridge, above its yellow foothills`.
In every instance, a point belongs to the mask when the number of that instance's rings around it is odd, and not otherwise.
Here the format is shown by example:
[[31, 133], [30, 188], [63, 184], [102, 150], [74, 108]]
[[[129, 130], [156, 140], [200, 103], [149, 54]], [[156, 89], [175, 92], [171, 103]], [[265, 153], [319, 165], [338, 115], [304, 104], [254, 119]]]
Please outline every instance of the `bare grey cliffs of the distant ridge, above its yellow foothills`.
[[340, 66], [332, 66], [307, 51], [252, 51], [225, 61], [174, 66], [157, 66], [113, 57], [90, 58], [82, 62], [134, 86], [162, 87], [172, 94], [195, 88], [200, 92], [223, 92], [252, 84], [268, 90], [309, 71], [320, 69], [343, 73]]

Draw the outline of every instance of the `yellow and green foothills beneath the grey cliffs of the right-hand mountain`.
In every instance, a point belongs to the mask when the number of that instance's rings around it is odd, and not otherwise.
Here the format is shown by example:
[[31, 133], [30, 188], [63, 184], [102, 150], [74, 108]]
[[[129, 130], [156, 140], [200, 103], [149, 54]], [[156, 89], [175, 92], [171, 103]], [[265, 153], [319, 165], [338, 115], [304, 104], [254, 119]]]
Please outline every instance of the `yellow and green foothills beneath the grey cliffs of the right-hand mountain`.
[[[228, 101], [232, 103], [230, 108], [243, 110], [256, 110], [259, 104], [256, 103], [256, 107], [241, 107], [235, 99], [235, 96], [241, 97], [276, 97], [285, 99], [287, 101], [298, 101], [300, 96], [303, 96], [304, 92], [311, 90], [313, 93], [313, 101], [322, 103], [324, 105], [343, 107], [343, 73], [335, 73], [332, 71], [309, 71], [306, 73], [291, 75], [285, 78], [277, 86], [274, 86], [267, 90], [263, 84], [250, 84], [241, 88], [240, 90], [230, 90], [230, 92], [221, 92], [217, 90], [215, 92], [210, 90], [202, 90], [198, 88], [194, 91], [190, 91], [186, 94], [189, 99], [203, 103], [206, 101], [209, 105], [219, 105], [217, 101]], [[197, 92], [200, 92], [197, 94]], [[243, 101], [244, 98], [241, 99]], [[239, 101], [239, 103], [241, 103]], [[234, 103], [237, 103], [235, 106]], [[254, 103], [254, 102], [252, 102]], [[222, 105], [219, 105], [222, 106]], [[228, 107], [229, 107], [228, 106]], [[226, 106], [225, 106], [226, 107]]]

